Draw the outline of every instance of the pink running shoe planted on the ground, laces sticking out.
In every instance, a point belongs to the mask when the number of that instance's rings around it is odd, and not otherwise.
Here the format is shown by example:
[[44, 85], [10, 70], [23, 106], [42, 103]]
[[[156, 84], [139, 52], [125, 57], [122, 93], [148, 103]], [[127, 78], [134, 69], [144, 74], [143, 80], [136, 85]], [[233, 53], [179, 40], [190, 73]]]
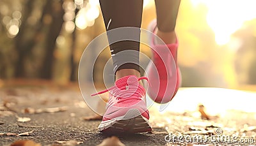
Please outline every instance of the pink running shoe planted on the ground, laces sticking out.
[[138, 82], [142, 79], [148, 80], [147, 77], [129, 75], [117, 80], [115, 86], [92, 94], [95, 96], [109, 91], [106, 112], [98, 127], [100, 132], [140, 133], [152, 130], [148, 122], [146, 91]]

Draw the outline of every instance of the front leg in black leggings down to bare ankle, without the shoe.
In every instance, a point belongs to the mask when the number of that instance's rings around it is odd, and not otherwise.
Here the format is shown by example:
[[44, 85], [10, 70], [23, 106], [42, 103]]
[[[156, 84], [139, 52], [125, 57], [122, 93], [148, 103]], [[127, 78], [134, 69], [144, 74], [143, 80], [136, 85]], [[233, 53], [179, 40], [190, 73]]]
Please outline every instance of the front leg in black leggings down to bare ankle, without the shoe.
[[[106, 31], [118, 27], [141, 27], [143, 0], [100, 0], [100, 7]], [[134, 35], [136, 35], [136, 38], [140, 38], [140, 32]], [[127, 75], [140, 77], [140, 66], [138, 65], [140, 42], [118, 41], [109, 45], [109, 47], [113, 59], [116, 80]], [[122, 54], [118, 54], [118, 52], [124, 50], [136, 50], [136, 52], [132, 54], [125, 54], [125, 58], [131, 59], [129, 62], [134, 63], [122, 64], [121, 59], [124, 57], [122, 57]]]

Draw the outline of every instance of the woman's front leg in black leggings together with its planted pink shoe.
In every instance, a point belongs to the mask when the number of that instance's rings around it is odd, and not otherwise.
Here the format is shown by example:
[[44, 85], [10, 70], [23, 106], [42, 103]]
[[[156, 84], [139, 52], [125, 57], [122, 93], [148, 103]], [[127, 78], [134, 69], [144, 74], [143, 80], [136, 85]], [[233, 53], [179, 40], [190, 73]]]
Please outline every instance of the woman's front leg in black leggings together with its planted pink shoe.
[[[141, 26], [143, 0], [100, 0], [100, 6], [107, 31], [118, 27], [137, 28], [135, 31], [129, 28], [129, 31], [126, 29], [126, 32], [118, 32], [114, 35], [108, 32], [109, 42], [116, 41], [113, 36], [119, 39], [130, 34], [136, 41], [124, 40], [109, 45], [116, 82], [113, 87], [97, 93], [111, 92], [99, 131], [111, 133], [151, 131], [146, 91], [141, 85], [141, 80], [147, 78], [140, 77], [139, 66], [140, 29], [138, 28]], [[127, 50], [132, 51], [127, 52]]]

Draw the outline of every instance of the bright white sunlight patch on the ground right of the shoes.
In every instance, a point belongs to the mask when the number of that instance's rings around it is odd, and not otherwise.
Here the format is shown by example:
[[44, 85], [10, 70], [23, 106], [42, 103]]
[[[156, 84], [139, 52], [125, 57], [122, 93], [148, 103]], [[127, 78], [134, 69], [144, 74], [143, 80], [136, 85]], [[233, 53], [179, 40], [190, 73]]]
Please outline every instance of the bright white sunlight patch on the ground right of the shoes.
[[[243, 98], [241, 98], [243, 97]], [[166, 110], [176, 113], [186, 111], [195, 112], [198, 117], [198, 105], [205, 106], [205, 112], [209, 115], [225, 114], [227, 110], [241, 110], [243, 112], [256, 112], [256, 92], [236, 91], [222, 88], [182, 88], [177, 92], [176, 98], [172, 99]], [[186, 102], [184, 102], [186, 101]], [[159, 108], [159, 105], [156, 106]]]

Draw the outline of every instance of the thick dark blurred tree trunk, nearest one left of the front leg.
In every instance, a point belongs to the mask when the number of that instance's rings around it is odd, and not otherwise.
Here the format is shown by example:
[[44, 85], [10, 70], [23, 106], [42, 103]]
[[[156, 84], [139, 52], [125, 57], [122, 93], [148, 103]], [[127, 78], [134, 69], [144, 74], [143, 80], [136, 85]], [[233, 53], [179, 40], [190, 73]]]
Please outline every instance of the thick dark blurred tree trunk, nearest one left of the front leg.
[[59, 36], [62, 28], [64, 10], [62, 8], [63, 1], [47, 0], [47, 3], [51, 3], [51, 6], [47, 9], [49, 11], [43, 17], [45, 19], [49, 18], [51, 23], [49, 23], [49, 31], [45, 39], [45, 55], [40, 73], [42, 78], [50, 79], [52, 77], [53, 53], [56, 47], [56, 38]]

